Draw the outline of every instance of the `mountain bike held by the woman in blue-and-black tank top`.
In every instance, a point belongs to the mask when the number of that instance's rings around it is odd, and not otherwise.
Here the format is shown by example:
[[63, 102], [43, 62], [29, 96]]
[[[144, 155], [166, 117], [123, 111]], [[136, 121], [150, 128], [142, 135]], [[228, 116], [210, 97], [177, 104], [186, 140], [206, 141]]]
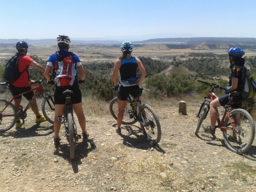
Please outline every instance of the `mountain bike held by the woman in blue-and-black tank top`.
[[[148, 104], [140, 104], [143, 90], [144, 88], [136, 90], [137, 97], [128, 95], [122, 124], [132, 125], [140, 122], [140, 127], [143, 130], [143, 134], [147, 136], [147, 140], [152, 144], [156, 144], [161, 140], [161, 125], [155, 111]], [[117, 100], [117, 97], [115, 97], [109, 104], [109, 111], [115, 120], [117, 120], [118, 114]]]

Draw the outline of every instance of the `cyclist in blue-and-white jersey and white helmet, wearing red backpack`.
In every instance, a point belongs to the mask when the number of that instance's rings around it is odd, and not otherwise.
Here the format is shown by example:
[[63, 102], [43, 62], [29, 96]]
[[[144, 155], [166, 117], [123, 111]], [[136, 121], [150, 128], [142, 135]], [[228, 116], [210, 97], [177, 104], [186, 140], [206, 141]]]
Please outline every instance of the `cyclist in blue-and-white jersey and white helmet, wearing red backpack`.
[[[70, 38], [67, 35], [59, 35], [57, 37], [57, 42], [58, 42], [58, 49], [60, 49], [60, 51], [58, 52], [58, 54], [56, 52], [49, 57], [49, 60], [47, 61], [47, 66], [44, 72], [45, 78], [48, 81], [51, 81], [50, 73], [52, 68], [56, 68], [56, 65], [60, 63], [60, 61], [56, 61], [58, 58], [58, 55], [59, 56], [67, 55], [68, 49], [70, 47], [69, 46]], [[79, 125], [82, 129], [83, 139], [86, 140], [89, 136], [89, 134], [86, 132], [86, 120], [85, 120], [85, 116], [83, 113], [83, 106], [82, 106], [82, 93], [79, 88], [79, 84], [84, 83], [86, 73], [78, 56], [72, 52], [70, 52], [70, 56], [72, 58], [71, 64], [74, 65], [74, 67], [77, 68], [81, 73], [81, 79], [77, 81], [77, 77], [75, 77], [74, 83], [72, 83], [72, 85], [69, 84], [68, 86], [61, 86], [55, 81], [56, 89], [54, 92], [54, 102], [55, 102], [54, 145], [56, 148], [60, 145], [59, 132], [61, 127], [61, 121], [58, 120], [58, 116], [63, 116], [64, 110], [65, 110], [66, 99], [65, 99], [65, 95], [63, 95], [63, 92], [67, 90], [67, 88], [68, 90], [73, 91], [73, 94], [71, 95], [71, 102], [72, 102], [73, 109], [77, 115]]]

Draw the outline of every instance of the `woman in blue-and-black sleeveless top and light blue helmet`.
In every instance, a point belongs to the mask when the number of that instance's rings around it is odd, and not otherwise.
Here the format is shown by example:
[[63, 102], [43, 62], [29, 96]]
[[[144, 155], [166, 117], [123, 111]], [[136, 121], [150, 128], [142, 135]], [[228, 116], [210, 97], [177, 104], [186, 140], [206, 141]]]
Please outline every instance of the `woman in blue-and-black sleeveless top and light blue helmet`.
[[126, 100], [129, 94], [136, 97], [136, 90], [140, 88], [140, 84], [142, 83], [143, 79], [145, 79], [147, 73], [145, 71], [145, 68], [143, 67], [143, 64], [141, 61], [131, 56], [133, 45], [131, 42], [124, 42], [121, 45], [121, 50], [123, 52], [123, 55], [116, 60], [115, 67], [112, 74], [113, 83], [115, 86], [118, 86], [117, 84], [117, 74], [118, 70], [120, 72], [120, 80], [127, 80], [132, 77], [136, 77], [137, 69], [140, 70], [141, 77], [138, 79], [137, 83], [131, 86], [124, 86], [122, 84], [118, 87], [118, 115], [117, 115], [117, 127], [116, 127], [116, 133], [121, 134], [121, 124], [122, 120], [124, 118], [124, 109], [126, 105]]

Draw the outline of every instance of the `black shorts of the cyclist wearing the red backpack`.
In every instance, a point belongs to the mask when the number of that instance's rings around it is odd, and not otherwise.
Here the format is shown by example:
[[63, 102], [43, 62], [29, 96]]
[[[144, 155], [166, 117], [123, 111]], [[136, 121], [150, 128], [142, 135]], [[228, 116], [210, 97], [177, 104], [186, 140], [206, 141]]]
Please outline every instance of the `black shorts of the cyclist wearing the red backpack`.
[[[67, 88], [56, 86], [56, 89], [54, 92], [55, 104], [65, 104], [66, 97], [65, 97], [65, 95], [63, 95], [63, 92], [65, 90], [67, 90]], [[68, 88], [68, 90], [71, 90], [73, 92], [71, 95], [72, 104], [77, 104], [79, 102], [82, 102], [82, 93], [81, 93], [78, 83], [74, 83], [72, 86], [70, 86]]]

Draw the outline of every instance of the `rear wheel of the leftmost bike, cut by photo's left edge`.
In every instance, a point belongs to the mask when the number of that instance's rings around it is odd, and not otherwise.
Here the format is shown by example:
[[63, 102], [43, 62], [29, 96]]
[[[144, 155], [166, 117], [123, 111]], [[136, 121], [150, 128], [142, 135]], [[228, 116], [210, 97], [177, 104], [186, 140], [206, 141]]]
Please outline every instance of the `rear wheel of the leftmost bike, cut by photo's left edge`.
[[[7, 100], [0, 100], [0, 109], [4, 109], [8, 104]], [[15, 106], [10, 103], [2, 113], [0, 113], [0, 132], [5, 132], [11, 129], [15, 125], [16, 116], [2, 116], [4, 115], [15, 115], [17, 113]]]

